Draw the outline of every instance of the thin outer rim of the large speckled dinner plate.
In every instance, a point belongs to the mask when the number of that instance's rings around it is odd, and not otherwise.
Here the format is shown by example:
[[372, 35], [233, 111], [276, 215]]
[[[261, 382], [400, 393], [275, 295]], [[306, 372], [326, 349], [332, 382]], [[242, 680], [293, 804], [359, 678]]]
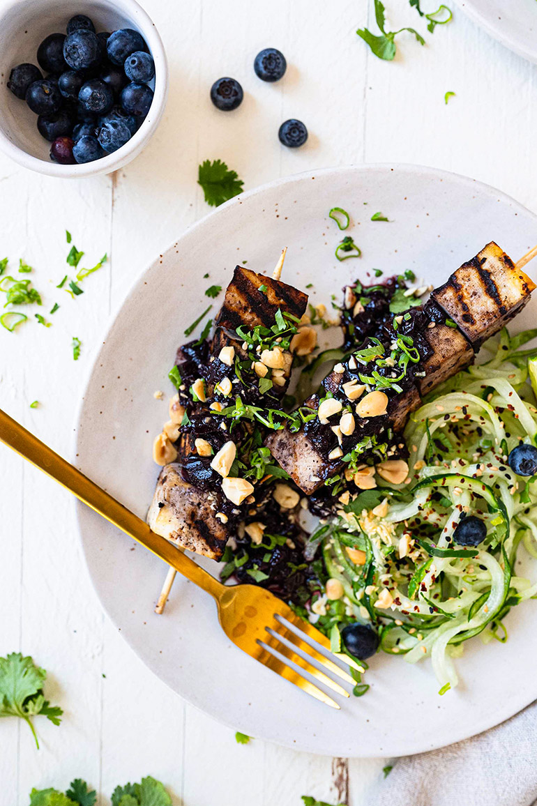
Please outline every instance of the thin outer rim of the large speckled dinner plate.
[[[305, 179], [307, 177], [310, 177], [310, 178], [322, 177], [322, 176], [326, 177], [328, 175], [332, 176], [332, 177], [337, 177], [337, 176], [343, 176], [344, 177], [345, 175], [348, 174], [348, 172], [356, 172], [356, 175], [359, 177], [360, 175], [365, 175], [368, 172], [376, 172], [376, 171], [381, 171], [381, 172], [389, 172], [389, 171], [393, 172], [393, 171], [396, 171], [398, 173], [406, 173], [406, 174], [414, 174], [416, 172], [425, 173], [425, 174], [427, 174], [427, 177], [438, 178], [440, 181], [443, 181], [445, 179], [446, 181], [457, 182], [460, 185], [466, 186], [468, 188], [468, 190], [470, 190], [470, 191], [472, 189], [474, 189], [474, 190], [481, 190], [484, 193], [493, 194], [493, 196], [496, 197], [497, 202], [502, 202], [502, 203], [505, 203], [506, 205], [510, 206], [515, 211], [515, 214], [523, 213], [525, 215], [530, 215], [531, 218], [534, 219], [535, 232], [537, 233], [537, 216], [535, 216], [535, 214], [531, 213], [530, 210], [527, 210], [526, 207], [524, 207], [521, 204], [519, 204], [518, 202], [516, 202], [512, 197], [508, 196], [506, 193], [502, 193], [501, 191], [499, 191], [497, 189], [494, 189], [490, 185], [486, 185], [485, 183], [482, 183], [482, 182], [477, 181], [477, 180], [473, 180], [473, 179], [471, 179], [469, 177], [461, 176], [461, 175], [456, 174], [454, 172], [443, 171], [443, 170], [440, 170], [440, 169], [437, 169], [437, 168], [429, 168], [427, 166], [421, 166], [421, 165], [417, 165], [417, 164], [386, 164], [386, 163], [381, 163], [381, 164], [350, 165], [350, 166], [337, 167], [337, 168], [323, 168], [323, 169], [319, 169], [318, 171], [301, 172], [301, 173], [295, 174], [295, 175], [293, 175], [291, 177], [284, 177], [284, 178], [277, 179], [275, 181], [269, 182], [269, 183], [267, 183], [265, 185], [260, 185], [259, 187], [255, 188], [255, 189], [252, 189], [252, 190], [250, 190], [250, 191], [248, 191], [246, 193], [241, 193], [239, 196], [234, 197], [229, 202], [226, 202], [223, 206], [220, 206], [218, 210], [210, 211], [210, 213], [207, 214], [200, 221], [195, 222], [192, 226], [189, 226], [189, 228], [186, 229], [184, 231], [184, 233], [182, 233], [179, 236], [179, 239], [173, 240], [172, 243], [169, 246], [169, 249], [172, 249], [173, 247], [177, 246], [177, 243], [179, 243], [181, 238], [184, 237], [185, 235], [187, 235], [187, 234], [192, 235], [196, 231], [202, 230], [203, 227], [206, 226], [206, 223], [208, 221], [210, 221], [212, 218], [214, 218], [216, 216], [219, 216], [221, 211], [229, 210], [229, 208], [231, 206], [244, 204], [245, 202], [248, 202], [249, 199], [252, 199], [253, 197], [258, 196], [259, 194], [266, 193], [267, 191], [269, 191], [271, 189], [279, 188], [279, 187], [282, 187], [284, 185], [293, 184], [293, 183], [295, 183], [297, 181], [301, 181], [301, 180], [303, 180], [303, 179]], [[165, 252], [163, 252], [163, 254], [165, 254]], [[146, 276], [146, 274], [150, 271], [150, 269], [152, 268], [154, 263], [155, 263], [155, 261], [152, 264], [150, 264], [150, 266], [146, 267], [143, 272], [140, 272], [140, 274], [139, 274], [137, 280], [135, 280], [130, 292], [127, 294], [127, 297], [123, 301], [123, 304], [120, 306], [119, 310], [116, 311], [116, 314], [115, 314], [116, 318], [119, 315], [119, 311], [123, 310], [123, 308], [125, 306], [129, 305], [129, 302], [131, 301], [131, 299], [133, 297], [135, 297], [136, 293], [139, 292], [139, 289], [144, 284], [144, 276]], [[109, 329], [107, 331], [106, 337], [105, 337], [105, 339], [103, 339], [103, 343], [106, 342], [106, 340], [109, 338], [110, 334], [114, 330], [114, 325], [115, 325], [116, 318], [114, 318], [114, 321], [110, 324], [110, 327], [109, 327]], [[91, 382], [91, 378], [94, 375], [95, 368], [96, 368], [96, 365], [98, 364], [98, 359], [99, 359], [99, 355], [100, 355], [101, 351], [102, 351], [102, 343], [101, 343], [100, 349], [97, 352], [97, 355], [94, 355], [94, 360], [93, 360], [93, 363], [92, 363], [91, 367], [88, 369], [88, 372], [87, 372], [87, 375], [86, 375], [85, 388], [87, 388], [88, 384], [90, 384], [90, 382]], [[78, 442], [79, 442], [79, 434], [80, 434], [80, 426], [81, 426], [81, 423], [82, 423], [83, 409], [84, 409], [84, 396], [81, 398], [81, 401], [80, 401], [80, 404], [79, 404], [78, 410], [77, 410], [77, 416], [76, 416], [76, 419], [75, 419], [76, 427], [74, 429], [74, 435], [73, 435], [73, 462], [74, 463], [77, 463], [77, 459], [76, 459], [77, 446], [78, 446]], [[83, 469], [84, 468], [81, 467], [82, 471], [83, 471]], [[88, 574], [90, 575], [91, 584], [92, 584], [92, 586], [94, 588], [94, 591], [95, 591], [96, 595], [98, 596], [98, 599], [101, 602], [102, 608], [104, 609], [106, 615], [110, 618], [110, 621], [117, 628], [118, 624], [116, 623], [116, 620], [115, 620], [113, 614], [110, 612], [110, 605], [100, 595], [100, 592], [98, 590], [98, 580], [94, 577], [94, 575], [92, 574], [92, 572], [90, 570], [90, 563], [89, 563], [89, 559], [88, 559], [88, 554], [87, 554], [87, 550], [86, 550], [86, 546], [85, 546], [85, 537], [84, 537], [84, 531], [85, 531], [84, 518], [85, 518], [85, 513], [88, 512], [88, 508], [86, 508], [85, 505], [82, 505], [80, 502], [77, 502], [77, 501], [73, 501], [73, 506], [75, 507], [75, 515], [76, 515], [76, 520], [77, 520], [77, 531], [78, 531], [79, 539], [81, 541], [82, 552], [83, 552], [83, 554], [85, 556], [86, 566], [87, 566], [87, 569], [88, 569]], [[90, 540], [91, 538], [88, 537], [86, 539]], [[128, 540], [128, 538], [126, 538], [126, 539]], [[209, 599], [209, 598], [210, 597], [207, 597], [207, 599]], [[215, 613], [214, 613], [214, 621], [216, 622]], [[474, 735], [477, 735], [478, 733], [482, 733], [485, 730], [494, 727], [495, 725], [500, 724], [502, 721], [505, 721], [506, 719], [514, 716], [514, 714], [518, 713], [523, 708], [525, 708], [537, 696], [537, 683], [535, 683], [535, 688], [533, 688], [531, 690], [530, 694], [528, 694], [527, 691], [522, 692], [521, 689], [518, 689], [518, 688], [515, 687], [513, 692], [512, 692], [513, 696], [511, 696], [511, 698], [510, 698], [510, 704], [507, 707], [506, 707], [505, 703], [499, 704], [497, 710], [489, 711], [489, 713], [487, 713], [486, 716], [482, 717], [480, 720], [475, 721], [471, 728], [464, 727], [463, 729], [460, 729], [460, 727], [458, 727], [456, 725], [453, 725], [452, 729], [449, 731], [448, 735], [443, 735], [443, 736], [436, 737], [435, 740], [430, 741], [430, 742], [423, 742], [423, 738], [420, 737], [418, 731], [414, 731], [413, 733], [410, 733], [410, 735], [408, 733], [406, 734], [404, 744], [402, 744], [402, 742], [400, 740], [398, 740], [398, 741], [395, 741], [395, 742], [392, 742], [392, 743], [387, 742], [385, 744], [385, 746], [381, 746], [381, 747], [379, 747], [379, 746], [364, 746], [362, 749], [360, 749], [360, 751], [352, 750], [352, 747], [345, 746], [344, 742], [343, 742], [343, 744], [341, 742], [339, 742], [339, 743], [336, 742], [334, 746], [319, 747], [318, 742], [316, 742], [316, 741], [313, 741], [313, 742], [306, 741], [306, 742], [298, 743], [298, 742], [294, 741], [293, 738], [290, 735], [289, 736], [281, 735], [281, 733], [278, 733], [277, 729], [276, 730], [268, 729], [266, 725], [257, 725], [255, 729], [252, 729], [251, 721], [245, 720], [242, 716], [229, 717], [229, 716], [224, 715], [223, 713], [214, 713], [213, 710], [210, 710], [209, 708], [204, 707], [204, 705], [200, 701], [200, 697], [197, 695], [197, 692], [193, 692], [193, 691], [189, 691], [189, 692], [181, 691], [181, 692], [178, 692], [177, 688], [173, 685], [173, 682], [170, 681], [169, 679], [167, 679], [164, 675], [160, 674], [159, 671], [156, 669], [156, 665], [158, 665], [158, 664], [150, 662], [147, 658], [144, 658], [142, 656], [142, 654], [140, 654], [139, 647], [135, 646], [135, 644], [136, 644], [135, 641], [131, 640], [131, 638], [128, 638], [125, 634], [123, 634], [123, 638], [125, 638], [127, 643], [129, 643], [129, 645], [131, 646], [132, 650], [135, 651], [135, 654], [137, 654], [139, 656], [139, 658], [142, 660], [142, 662], [146, 666], [148, 666], [148, 668], [151, 669], [151, 671], [153, 671], [160, 679], [162, 679], [164, 681], [164, 683], [166, 683], [169, 686], [169, 688], [171, 688], [174, 692], [178, 693], [182, 697], [182, 699], [184, 699], [187, 702], [189, 702], [189, 704], [194, 705], [194, 707], [199, 708], [204, 713], [209, 713], [211, 717], [217, 719], [218, 721], [220, 721], [221, 723], [223, 723], [225, 725], [228, 725], [232, 729], [239, 729], [239, 730], [243, 731], [244, 733], [249, 732], [250, 735], [255, 735], [256, 737], [259, 737], [259, 738], [264, 739], [266, 741], [275, 742], [278, 745], [286, 746], [291, 750], [302, 750], [302, 751], [305, 751], [305, 752], [310, 752], [310, 753], [319, 754], [319, 755], [333, 755], [333, 756], [360, 757], [360, 758], [375, 758], [375, 757], [380, 757], [380, 756], [381, 757], [398, 757], [398, 756], [402, 756], [402, 755], [418, 754], [418, 753], [421, 753], [421, 752], [426, 752], [428, 750], [435, 750], [435, 749], [437, 749], [439, 747], [448, 746], [448, 745], [450, 745], [450, 744], [452, 744], [454, 742], [459, 742], [459, 741], [464, 740], [464, 739], [466, 739], [468, 737], [472, 737]], [[272, 676], [275, 677], [275, 675], [272, 675]], [[278, 681], [278, 683], [281, 683], [281, 685], [283, 685], [283, 686], [288, 685], [287, 683], [285, 683], [283, 681]], [[302, 696], [302, 695], [300, 695], [300, 696]], [[314, 700], [312, 700], [312, 702], [314, 703]], [[321, 707], [325, 708], [325, 706], [321, 706]]]

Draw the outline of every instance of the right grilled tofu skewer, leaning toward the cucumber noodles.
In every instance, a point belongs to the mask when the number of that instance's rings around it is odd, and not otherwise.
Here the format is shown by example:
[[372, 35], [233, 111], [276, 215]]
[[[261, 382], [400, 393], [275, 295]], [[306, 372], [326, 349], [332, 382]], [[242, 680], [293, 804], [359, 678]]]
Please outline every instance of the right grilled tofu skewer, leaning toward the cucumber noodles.
[[[535, 256], [535, 251], [528, 253], [528, 260], [531, 255]], [[378, 446], [386, 434], [389, 440], [390, 433], [401, 431], [410, 412], [420, 405], [421, 396], [471, 364], [485, 339], [522, 310], [533, 289], [535, 283], [521, 268], [515, 267], [496, 243], [487, 244], [435, 289], [424, 306], [417, 358], [422, 370], [415, 373], [414, 382], [404, 384], [405, 388], [399, 386], [397, 394], [393, 394], [395, 384], [390, 389], [377, 383], [379, 388], [372, 390], [372, 385], [363, 380], [364, 376], [371, 376], [371, 369], [366, 367], [362, 373], [362, 368], [356, 366], [356, 358], [360, 361], [360, 353], [367, 354], [367, 349], [355, 351], [344, 364], [335, 367], [339, 372], [332, 372], [323, 381], [324, 389], [334, 399], [324, 400], [317, 395], [306, 401], [313, 411], [318, 410], [317, 421], [307, 423], [297, 434], [290, 434], [288, 429], [269, 434], [266, 445], [274, 458], [298, 487], [311, 495], [343, 469], [343, 455], [360, 445], [365, 455], [365, 451], [374, 451], [375, 442]], [[407, 314], [410, 318], [413, 315], [410, 311]], [[400, 325], [403, 318], [397, 317]], [[410, 347], [411, 351], [414, 349], [415, 346]], [[382, 395], [386, 398], [384, 409], [378, 403], [383, 400]], [[368, 406], [373, 397], [376, 405]], [[325, 412], [329, 412], [327, 417], [323, 417]], [[339, 446], [332, 434], [337, 435]], [[372, 444], [364, 447], [364, 437], [368, 435], [373, 437]], [[362, 479], [361, 483], [370, 482]]]

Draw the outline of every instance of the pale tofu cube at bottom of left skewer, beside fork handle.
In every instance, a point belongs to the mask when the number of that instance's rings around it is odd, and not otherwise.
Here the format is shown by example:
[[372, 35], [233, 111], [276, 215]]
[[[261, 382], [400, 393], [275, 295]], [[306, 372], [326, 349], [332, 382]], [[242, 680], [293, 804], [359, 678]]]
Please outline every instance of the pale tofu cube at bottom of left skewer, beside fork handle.
[[222, 493], [188, 484], [180, 465], [167, 464], [156, 483], [147, 521], [153, 532], [176, 546], [220, 559], [228, 537], [227, 526], [216, 517], [222, 502]]

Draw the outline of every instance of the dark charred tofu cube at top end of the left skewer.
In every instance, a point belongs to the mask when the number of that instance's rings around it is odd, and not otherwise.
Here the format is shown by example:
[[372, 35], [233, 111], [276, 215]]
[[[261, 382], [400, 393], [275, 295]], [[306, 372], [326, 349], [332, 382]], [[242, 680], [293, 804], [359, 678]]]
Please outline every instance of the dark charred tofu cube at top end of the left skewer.
[[[259, 290], [261, 285], [266, 287], [265, 292]], [[258, 325], [271, 327], [278, 308], [300, 319], [307, 303], [307, 294], [292, 285], [237, 266], [215, 324], [227, 330], [239, 326], [249, 330]]]

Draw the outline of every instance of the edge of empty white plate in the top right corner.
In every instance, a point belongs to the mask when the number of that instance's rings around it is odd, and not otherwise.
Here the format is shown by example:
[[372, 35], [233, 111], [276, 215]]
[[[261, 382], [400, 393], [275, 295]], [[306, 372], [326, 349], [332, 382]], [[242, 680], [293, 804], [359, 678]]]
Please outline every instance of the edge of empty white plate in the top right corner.
[[525, 59], [537, 62], [537, 0], [455, 0], [477, 25]]

